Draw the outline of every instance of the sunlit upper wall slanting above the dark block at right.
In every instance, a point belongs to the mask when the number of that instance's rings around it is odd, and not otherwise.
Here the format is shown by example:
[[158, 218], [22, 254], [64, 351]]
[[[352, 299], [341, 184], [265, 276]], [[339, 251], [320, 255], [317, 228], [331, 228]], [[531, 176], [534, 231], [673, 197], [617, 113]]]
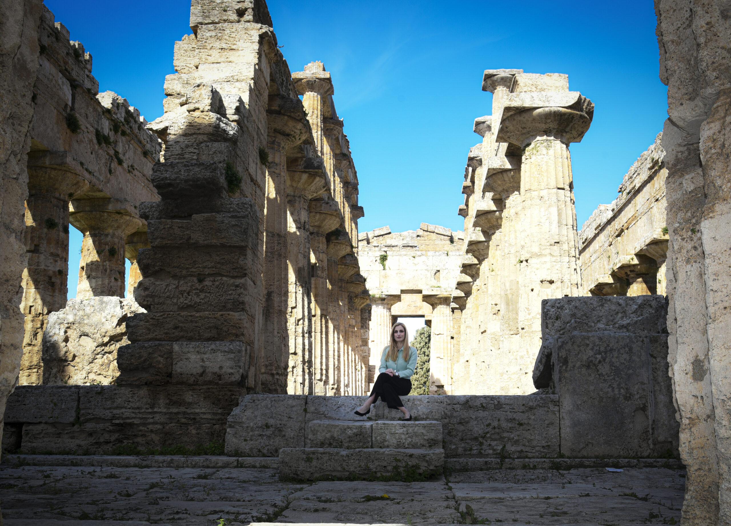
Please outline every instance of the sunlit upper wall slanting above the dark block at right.
[[662, 134], [624, 176], [619, 197], [599, 205], [579, 233], [582, 293], [666, 293], [668, 228]]

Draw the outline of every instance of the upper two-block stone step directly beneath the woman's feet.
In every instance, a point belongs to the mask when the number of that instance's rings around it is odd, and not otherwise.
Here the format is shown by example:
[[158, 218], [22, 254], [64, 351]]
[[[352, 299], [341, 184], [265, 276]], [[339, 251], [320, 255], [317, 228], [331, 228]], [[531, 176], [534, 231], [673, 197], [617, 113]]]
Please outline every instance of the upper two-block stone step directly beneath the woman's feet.
[[442, 448], [442, 422], [314, 420], [307, 424], [306, 448]]

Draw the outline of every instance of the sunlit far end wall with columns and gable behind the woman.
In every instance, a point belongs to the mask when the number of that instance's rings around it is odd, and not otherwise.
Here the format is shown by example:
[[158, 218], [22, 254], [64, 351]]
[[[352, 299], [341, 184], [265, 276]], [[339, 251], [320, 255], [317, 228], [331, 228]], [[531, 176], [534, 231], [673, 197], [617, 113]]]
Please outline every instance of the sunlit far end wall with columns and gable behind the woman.
[[[453, 338], [457, 304], [452, 296], [463, 255], [462, 232], [422, 223], [419, 230], [392, 233], [389, 227], [360, 234], [361, 271], [371, 293], [370, 381], [398, 316], [424, 316], [431, 326], [430, 390], [452, 394], [452, 364], [459, 352]], [[413, 337], [413, 335], [412, 335]], [[456, 387], [457, 392], [461, 386]]]

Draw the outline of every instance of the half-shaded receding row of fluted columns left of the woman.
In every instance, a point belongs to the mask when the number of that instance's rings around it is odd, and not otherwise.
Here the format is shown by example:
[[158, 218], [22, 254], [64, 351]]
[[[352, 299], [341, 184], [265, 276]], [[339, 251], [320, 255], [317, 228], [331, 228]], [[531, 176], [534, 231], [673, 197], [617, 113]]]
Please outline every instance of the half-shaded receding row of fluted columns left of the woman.
[[301, 104], [270, 96], [268, 110], [262, 391], [363, 394], [355, 170], [330, 73], [313, 62], [292, 80]]

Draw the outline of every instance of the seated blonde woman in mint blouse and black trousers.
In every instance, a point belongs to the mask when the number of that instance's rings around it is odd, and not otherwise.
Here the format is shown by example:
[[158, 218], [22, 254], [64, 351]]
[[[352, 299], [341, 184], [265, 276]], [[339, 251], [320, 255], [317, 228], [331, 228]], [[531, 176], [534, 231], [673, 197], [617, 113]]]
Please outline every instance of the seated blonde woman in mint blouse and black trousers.
[[366, 403], [355, 410], [357, 416], [366, 416], [371, 412], [371, 405], [382, 399], [390, 409], [398, 409], [404, 413], [404, 420], [411, 420], [411, 413], [406, 410], [401, 398], [411, 391], [410, 378], [416, 369], [417, 351], [409, 347], [409, 333], [403, 323], [394, 323], [391, 328], [391, 343], [381, 355], [381, 374], [376, 378], [371, 396]]

